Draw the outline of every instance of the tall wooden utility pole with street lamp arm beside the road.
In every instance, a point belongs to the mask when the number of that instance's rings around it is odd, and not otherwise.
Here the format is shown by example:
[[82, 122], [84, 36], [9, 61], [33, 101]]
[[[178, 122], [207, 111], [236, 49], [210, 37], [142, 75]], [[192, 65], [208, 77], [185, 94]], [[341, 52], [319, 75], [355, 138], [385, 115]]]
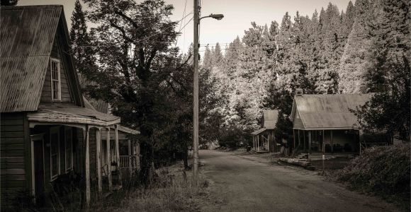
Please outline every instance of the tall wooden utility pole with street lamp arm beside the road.
[[194, 42], [193, 42], [193, 179], [198, 182], [198, 26], [203, 18], [214, 18], [221, 20], [223, 14], [213, 14], [200, 18], [200, 6], [198, 0], [194, 0]]

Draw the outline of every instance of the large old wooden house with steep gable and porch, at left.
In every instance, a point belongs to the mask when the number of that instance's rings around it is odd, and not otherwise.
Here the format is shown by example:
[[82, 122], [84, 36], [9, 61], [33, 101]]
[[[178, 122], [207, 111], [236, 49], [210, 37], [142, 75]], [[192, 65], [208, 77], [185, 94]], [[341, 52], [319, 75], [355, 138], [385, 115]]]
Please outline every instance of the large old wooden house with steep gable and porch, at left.
[[2, 6], [0, 25], [1, 206], [22, 191], [43, 204], [73, 176], [86, 202], [120, 188], [139, 132], [82, 95], [63, 7]]

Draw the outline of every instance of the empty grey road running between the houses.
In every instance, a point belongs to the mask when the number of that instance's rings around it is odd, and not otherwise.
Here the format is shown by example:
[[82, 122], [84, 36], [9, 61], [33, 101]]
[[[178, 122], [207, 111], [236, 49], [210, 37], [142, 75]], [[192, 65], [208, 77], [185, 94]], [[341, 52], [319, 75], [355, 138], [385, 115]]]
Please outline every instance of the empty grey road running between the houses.
[[397, 211], [381, 199], [325, 182], [315, 172], [261, 163], [253, 155], [200, 151], [210, 179], [203, 211]]

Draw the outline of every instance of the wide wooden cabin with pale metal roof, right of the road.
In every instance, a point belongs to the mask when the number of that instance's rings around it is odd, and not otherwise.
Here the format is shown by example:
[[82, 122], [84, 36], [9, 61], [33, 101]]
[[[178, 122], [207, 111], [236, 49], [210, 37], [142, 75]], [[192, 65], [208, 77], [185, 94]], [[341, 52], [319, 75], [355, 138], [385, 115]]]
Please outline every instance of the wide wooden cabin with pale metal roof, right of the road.
[[303, 95], [297, 90], [291, 121], [295, 151], [308, 154], [356, 153], [360, 149], [356, 115], [369, 94]]

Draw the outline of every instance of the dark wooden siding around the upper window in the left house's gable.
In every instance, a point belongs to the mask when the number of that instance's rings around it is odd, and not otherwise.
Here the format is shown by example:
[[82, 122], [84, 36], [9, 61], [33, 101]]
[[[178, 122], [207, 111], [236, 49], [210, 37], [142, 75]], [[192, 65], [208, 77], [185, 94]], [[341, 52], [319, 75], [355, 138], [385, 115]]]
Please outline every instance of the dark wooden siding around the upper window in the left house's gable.
[[[61, 52], [60, 39], [61, 39], [60, 36], [56, 35], [50, 57], [60, 60], [60, 83], [61, 83], [61, 93], [62, 93], [61, 102], [73, 102], [71, 90], [69, 88], [69, 83], [68, 83], [66, 60], [62, 57], [63, 54]], [[45, 81], [43, 85], [43, 90], [41, 93], [40, 103], [52, 102], [50, 77], [51, 76], [50, 76], [50, 61], [49, 61], [49, 64], [47, 66]]]

